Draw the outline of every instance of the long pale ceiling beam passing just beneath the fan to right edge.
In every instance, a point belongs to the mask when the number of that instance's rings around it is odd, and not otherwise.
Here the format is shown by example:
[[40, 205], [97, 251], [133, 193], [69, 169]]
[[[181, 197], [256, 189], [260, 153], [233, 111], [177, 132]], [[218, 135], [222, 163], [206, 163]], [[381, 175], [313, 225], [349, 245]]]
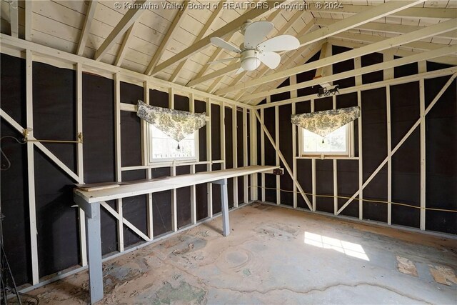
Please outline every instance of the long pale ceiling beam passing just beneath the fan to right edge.
[[451, 19], [448, 21], [441, 22], [440, 24], [435, 24], [433, 26], [428, 26], [425, 29], [420, 29], [418, 31], [413, 31], [408, 34], [403, 34], [400, 36], [392, 37], [390, 39], [384, 39], [383, 41], [370, 44], [368, 46], [363, 46], [358, 49], [351, 51], [346, 51], [344, 53], [328, 57], [319, 61], [313, 61], [309, 64], [304, 64], [303, 66], [296, 66], [286, 71], [278, 71], [276, 73], [270, 74], [268, 76], [261, 77], [259, 79], [254, 79], [252, 81], [247, 81], [244, 84], [237, 84], [236, 86], [231, 86], [226, 89], [221, 89], [216, 91], [216, 94], [226, 94], [230, 91], [236, 91], [241, 89], [246, 89], [251, 86], [258, 86], [260, 84], [265, 84], [270, 81], [275, 81], [276, 79], [282, 79], [293, 74], [299, 74], [310, 69], [317, 69], [321, 66], [327, 66], [329, 64], [336, 64], [337, 62], [345, 61], [348, 59], [353, 59], [358, 56], [363, 56], [370, 54], [376, 51], [381, 51], [385, 49], [390, 49], [395, 46], [400, 46], [402, 44], [408, 44], [412, 41], [418, 41], [420, 39], [426, 39], [431, 36], [435, 36], [446, 31], [453, 31], [457, 29], [457, 19]]

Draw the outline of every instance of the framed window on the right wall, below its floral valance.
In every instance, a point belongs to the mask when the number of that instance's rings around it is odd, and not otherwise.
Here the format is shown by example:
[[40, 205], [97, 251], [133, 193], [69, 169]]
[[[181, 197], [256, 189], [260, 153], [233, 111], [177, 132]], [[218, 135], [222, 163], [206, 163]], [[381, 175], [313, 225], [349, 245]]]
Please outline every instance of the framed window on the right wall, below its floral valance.
[[353, 156], [353, 122], [327, 136], [299, 128], [301, 156]]

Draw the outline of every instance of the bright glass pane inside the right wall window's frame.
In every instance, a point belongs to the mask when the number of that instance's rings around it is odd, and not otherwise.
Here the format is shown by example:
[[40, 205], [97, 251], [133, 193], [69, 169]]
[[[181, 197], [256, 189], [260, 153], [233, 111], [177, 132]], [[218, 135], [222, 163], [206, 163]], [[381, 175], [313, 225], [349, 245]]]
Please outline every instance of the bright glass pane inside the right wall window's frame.
[[348, 151], [346, 137], [348, 125], [341, 126], [327, 136], [319, 136], [311, 131], [303, 131], [303, 151], [308, 154], [345, 153]]

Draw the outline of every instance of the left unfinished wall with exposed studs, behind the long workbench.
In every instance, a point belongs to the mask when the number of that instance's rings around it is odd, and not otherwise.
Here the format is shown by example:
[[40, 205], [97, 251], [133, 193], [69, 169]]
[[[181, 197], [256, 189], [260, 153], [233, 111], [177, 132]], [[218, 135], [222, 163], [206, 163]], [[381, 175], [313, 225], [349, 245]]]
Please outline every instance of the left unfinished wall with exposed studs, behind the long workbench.
[[[1, 136], [22, 139], [31, 117], [36, 139], [76, 140], [79, 129], [84, 135], [82, 145], [32, 144], [31, 156], [27, 145], [12, 139], [1, 142], [11, 162], [8, 170], [1, 171], [4, 247], [18, 285], [36, 284], [44, 276], [86, 264], [84, 214], [71, 207], [74, 184], [243, 166], [243, 151], [240, 163], [233, 157], [238, 151], [231, 139], [246, 139], [246, 109], [236, 111], [234, 104], [122, 79], [121, 74], [101, 76], [84, 73], [81, 66], [62, 66], [33, 61], [26, 69], [26, 59], [1, 54]], [[28, 71], [31, 78], [26, 76]], [[33, 90], [28, 96], [30, 79]], [[33, 103], [28, 104], [30, 97]], [[206, 112], [207, 125], [199, 130], [199, 161], [184, 166], [147, 163], [147, 125], [132, 107], [139, 99], [155, 106]], [[26, 115], [29, 108], [31, 117]], [[6, 163], [2, 157], [2, 169]], [[230, 207], [246, 202], [244, 179], [229, 179]], [[220, 186], [201, 184], [103, 203], [102, 253], [110, 256], [219, 214], [220, 191]], [[35, 224], [37, 234], [31, 229]]]

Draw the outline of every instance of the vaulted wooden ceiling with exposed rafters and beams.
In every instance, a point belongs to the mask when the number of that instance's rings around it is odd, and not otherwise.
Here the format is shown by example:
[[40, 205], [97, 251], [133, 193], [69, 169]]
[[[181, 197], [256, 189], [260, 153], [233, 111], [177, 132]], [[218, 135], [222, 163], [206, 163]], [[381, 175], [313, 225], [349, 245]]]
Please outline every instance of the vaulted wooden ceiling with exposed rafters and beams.
[[[457, 65], [457, 1], [1, 1], [1, 33], [159, 79], [256, 104], [289, 75], [375, 51]], [[200, 7], [199, 7], [200, 6]], [[201, 7], [209, 9], [202, 9]], [[268, 20], [268, 38], [301, 42], [271, 70], [235, 74], [239, 63], [209, 61], [234, 54], [210, 44], [220, 36], [239, 46], [246, 19]], [[321, 48], [356, 51], [331, 56]], [[386, 65], [388, 66], [388, 64]]]

